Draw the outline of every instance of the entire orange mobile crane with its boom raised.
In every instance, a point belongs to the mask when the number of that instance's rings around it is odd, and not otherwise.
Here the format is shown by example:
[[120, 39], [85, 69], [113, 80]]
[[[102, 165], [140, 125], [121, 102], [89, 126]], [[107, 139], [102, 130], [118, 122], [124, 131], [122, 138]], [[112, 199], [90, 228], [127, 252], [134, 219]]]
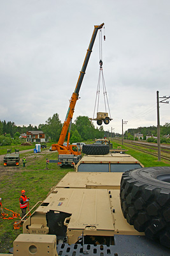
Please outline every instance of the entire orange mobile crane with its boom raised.
[[[70, 131], [71, 131], [71, 123], [74, 113], [74, 108], [76, 105], [76, 101], [78, 100], [78, 95], [80, 92], [81, 83], [83, 81], [83, 77], [85, 75], [85, 70], [87, 68], [87, 64], [89, 62], [90, 54], [92, 52], [92, 47], [94, 45], [94, 41], [97, 36], [97, 31], [103, 28], [104, 23], [99, 26], [94, 26], [94, 31], [92, 34], [92, 38], [90, 40], [89, 48], [87, 49], [87, 54], [85, 56], [85, 60], [83, 62], [83, 66], [80, 71], [80, 75], [78, 77], [78, 81], [76, 83], [76, 88], [69, 100], [69, 108], [67, 110], [66, 119], [64, 121], [64, 125], [62, 127], [62, 131], [60, 133], [60, 138], [57, 144], [52, 144], [52, 150], [57, 150], [59, 152], [59, 159], [57, 160], [57, 164], [59, 166], [63, 165], [74, 165], [74, 163], [78, 163], [81, 159], [81, 149], [77, 145], [69, 145]], [[66, 138], [67, 130], [69, 127], [69, 132], [67, 136], [67, 146], [64, 146], [64, 140]], [[49, 160], [50, 163], [54, 163], [54, 161]], [[55, 161], [56, 162], [56, 161]]]

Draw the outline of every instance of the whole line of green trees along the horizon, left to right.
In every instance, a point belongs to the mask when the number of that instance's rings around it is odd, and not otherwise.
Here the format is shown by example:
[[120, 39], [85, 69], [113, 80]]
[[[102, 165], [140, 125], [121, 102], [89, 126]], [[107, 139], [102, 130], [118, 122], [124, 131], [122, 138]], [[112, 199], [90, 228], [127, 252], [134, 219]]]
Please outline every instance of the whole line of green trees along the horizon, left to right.
[[[6, 122], [0, 120], [0, 145], [2, 145], [2, 141], [8, 141], [10, 143], [10, 138], [18, 141], [19, 134], [26, 133], [27, 131], [43, 131], [48, 138], [52, 142], [57, 142], [59, 140], [60, 132], [62, 129], [62, 122], [59, 120], [59, 115], [55, 113], [52, 117], [49, 117], [45, 124], [39, 124], [38, 127], [35, 125], [29, 124], [25, 125], [15, 125], [15, 122]], [[17, 132], [17, 135], [16, 135]], [[144, 140], [146, 136], [157, 136], [157, 127], [138, 127], [136, 129], [128, 129], [125, 131], [125, 138], [129, 138], [130, 140], [134, 138], [134, 134], [141, 133], [143, 134]], [[170, 134], [170, 124], [166, 123], [164, 125], [160, 125], [160, 137], [164, 135]], [[71, 125], [71, 136], [70, 143], [94, 140], [95, 138], [103, 138], [103, 136], [115, 137], [122, 136], [121, 134], [115, 134], [114, 132], [104, 131], [103, 125], [99, 127], [95, 127], [94, 124], [89, 120], [88, 116], [78, 116], [74, 123]], [[66, 135], [67, 140], [67, 135]], [[16, 143], [17, 143], [16, 141]], [[9, 145], [9, 144], [6, 144]]]

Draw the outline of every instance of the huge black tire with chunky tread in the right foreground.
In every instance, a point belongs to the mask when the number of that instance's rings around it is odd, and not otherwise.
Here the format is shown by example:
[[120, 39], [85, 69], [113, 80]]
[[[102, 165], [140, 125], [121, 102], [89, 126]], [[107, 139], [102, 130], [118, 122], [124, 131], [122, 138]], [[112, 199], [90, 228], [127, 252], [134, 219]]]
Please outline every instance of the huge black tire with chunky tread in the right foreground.
[[170, 248], [170, 167], [123, 173], [120, 202], [130, 225]]

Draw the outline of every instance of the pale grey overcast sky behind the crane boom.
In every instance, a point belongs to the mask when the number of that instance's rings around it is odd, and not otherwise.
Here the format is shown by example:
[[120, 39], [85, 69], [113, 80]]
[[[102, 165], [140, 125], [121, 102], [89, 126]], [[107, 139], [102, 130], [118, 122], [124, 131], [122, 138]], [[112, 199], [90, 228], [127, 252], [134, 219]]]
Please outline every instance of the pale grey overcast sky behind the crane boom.
[[[39, 125], [58, 113], [64, 122], [94, 25], [104, 22], [113, 118], [104, 130], [122, 133], [122, 119], [124, 131], [157, 125], [157, 90], [170, 96], [169, 0], [0, 1], [1, 121]], [[98, 77], [99, 33], [73, 120], [93, 116]], [[99, 102], [105, 112], [103, 90]], [[170, 122], [169, 111], [160, 104], [160, 125]]]

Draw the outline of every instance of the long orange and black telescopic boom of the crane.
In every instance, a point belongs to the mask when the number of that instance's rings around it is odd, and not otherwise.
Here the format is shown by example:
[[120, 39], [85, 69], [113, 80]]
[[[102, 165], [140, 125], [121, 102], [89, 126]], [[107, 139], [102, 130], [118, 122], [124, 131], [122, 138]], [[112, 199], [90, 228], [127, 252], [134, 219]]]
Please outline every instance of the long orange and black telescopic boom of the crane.
[[104, 23], [99, 25], [99, 26], [94, 26], [94, 31], [93, 31], [93, 34], [92, 34], [92, 38], [90, 40], [89, 48], [87, 49], [87, 54], [85, 56], [83, 66], [81, 68], [80, 75], [78, 77], [76, 88], [73, 92], [73, 95], [71, 96], [71, 100], [70, 100], [70, 103], [69, 103], [69, 108], [68, 108], [67, 115], [66, 115], [66, 120], [65, 120], [64, 125], [62, 127], [62, 131], [60, 133], [59, 141], [58, 141], [57, 144], [52, 145], [52, 150], [58, 150], [59, 151], [60, 145], [63, 145], [63, 143], [64, 143], [64, 140], [65, 140], [66, 134], [67, 134], [67, 130], [68, 130], [68, 127], [69, 127], [69, 123], [70, 123], [71, 119], [73, 118], [74, 108], [75, 108], [75, 105], [76, 105], [76, 101], [78, 100], [78, 95], [79, 95], [81, 83], [82, 83], [83, 77], [85, 75], [85, 70], [86, 70], [87, 64], [89, 62], [90, 54], [92, 52], [92, 47], [93, 47], [94, 41], [96, 39], [97, 31], [99, 29], [103, 28], [103, 26], [104, 26]]

